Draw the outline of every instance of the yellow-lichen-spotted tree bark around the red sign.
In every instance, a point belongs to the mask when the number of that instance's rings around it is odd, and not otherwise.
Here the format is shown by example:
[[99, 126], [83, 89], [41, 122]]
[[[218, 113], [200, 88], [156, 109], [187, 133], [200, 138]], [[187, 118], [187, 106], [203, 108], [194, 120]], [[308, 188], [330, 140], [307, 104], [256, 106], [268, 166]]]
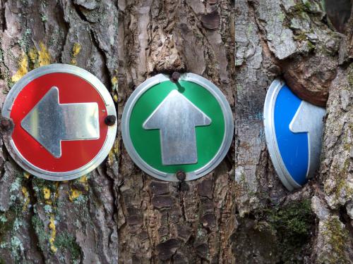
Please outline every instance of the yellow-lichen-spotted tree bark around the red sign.
[[[0, 37], [1, 105], [13, 83], [49, 63], [85, 68], [114, 94], [113, 1], [1, 1]], [[2, 142], [0, 156], [0, 263], [117, 263], [114, 152], [70, 182], [26, 174]]]

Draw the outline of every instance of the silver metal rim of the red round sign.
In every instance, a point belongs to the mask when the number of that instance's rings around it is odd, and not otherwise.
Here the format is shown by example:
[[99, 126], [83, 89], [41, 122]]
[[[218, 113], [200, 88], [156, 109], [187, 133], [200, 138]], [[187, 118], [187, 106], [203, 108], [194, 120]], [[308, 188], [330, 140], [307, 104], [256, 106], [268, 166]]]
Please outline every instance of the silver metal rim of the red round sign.
[[[74, 65], [56, 63], [51, 65], [45, 65], [30, 71], [30, 73], [23, 76], [18, 82], [16, 82], [15, 85], [13, 85], [10, 92], [6, 96], [4, 106], [2, 108], [1, 114], [4, 116], [4, 118], [10, 118], [13, 102], [15, 101], [20, 91], [24, 87], [26, 87], [27, 84], [32, 82], [32, 80], [35, 80], [37, 77], [47, 75], [49, 73], [69, 73], [72, 75], [76, 75], [82, 78], [83, 80], [89, 82], [102, 97], [105, 104], [105, 108], [107, 109], [107, 115], [116, 116], [116, 110], [112, 96], [110, 96], [107, 88], [104, 86], [104, 84], [102, 84], [102, 82], [100, 82], [97, 77], [95, 77], [95, 75], [92, 75], [92, 73], [88, 72], [87, 70], [84, 70], [83, 68], [79, 68]], [[25, 157], [23, 157], [20, 151], [18, 151], [16, 145], [13, 142], [12, 137], [8, 137], [6, 140], [4, 140], [4, 143], [12, 158], [23, 169], [30, 172], [30, 174], [40, 177], [44, 180], [73, 180], [94, 170], [95, 168], [97, 168], [98, 165], [100, 165], [100, 163], [102, 163], [102, 161], [104, 161], [104, 158], [107, 157], [110, 149], [112, 149], [112, 146], [114, 144], [114, 140], [116, 137], [116, 129], [116, 124], [108, 127], [107, 137], [104, 141], [102, 148], [97, 153], [95, 158], [92, 158], [90, 162], [83, 165], [82, 167], [67, 172], [50, 172], [47, 170], [42, 170], [41, 168], [38, 168], [37, 166], [33, 165], [32, 163], [27, 161]]]

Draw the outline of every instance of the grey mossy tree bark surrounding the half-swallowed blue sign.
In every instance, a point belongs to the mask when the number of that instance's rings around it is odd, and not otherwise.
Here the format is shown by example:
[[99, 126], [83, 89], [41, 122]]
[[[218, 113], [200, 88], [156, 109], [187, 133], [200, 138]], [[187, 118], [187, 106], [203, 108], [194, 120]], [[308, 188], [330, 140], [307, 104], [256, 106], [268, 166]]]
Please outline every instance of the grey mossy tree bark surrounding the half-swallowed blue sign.
[[[240, 263], [353, 261], [352, 33], [337, 34], [327, 19], [318, 1], [236, 1]], [[265, 89], [280, 75], [311, 103], [324, 105], [330, 92], [321, 177], [292, 194], [277, 180], [263, 137]]]

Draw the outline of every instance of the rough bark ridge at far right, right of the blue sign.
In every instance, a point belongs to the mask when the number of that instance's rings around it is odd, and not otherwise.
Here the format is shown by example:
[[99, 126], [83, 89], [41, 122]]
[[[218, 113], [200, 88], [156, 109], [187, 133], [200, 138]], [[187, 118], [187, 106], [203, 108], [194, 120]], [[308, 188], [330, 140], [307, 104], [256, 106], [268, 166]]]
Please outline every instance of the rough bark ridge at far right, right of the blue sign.
[[320, 263], [353, 261], [353, 15], [347, 29], [329, 87], [321, 185], [312, 198], [318, 217], [314, 253]]

